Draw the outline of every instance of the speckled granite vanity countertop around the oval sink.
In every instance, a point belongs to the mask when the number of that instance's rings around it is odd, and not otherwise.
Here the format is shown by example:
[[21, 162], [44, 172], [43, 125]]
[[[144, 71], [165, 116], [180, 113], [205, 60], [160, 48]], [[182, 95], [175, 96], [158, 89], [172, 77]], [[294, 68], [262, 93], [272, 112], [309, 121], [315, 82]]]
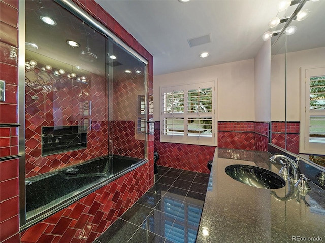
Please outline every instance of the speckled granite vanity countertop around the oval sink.
[[[299, 196], [286, 181], [280, 189], [240, 183], [225, 167], [245, 164], [278, 174], [268, 152], [217, 148], [197, 236], [201, 242], [325, 242], [325, 191], [309, 182], [311, 191]], [[318, 238], [317, 238], [318, 237]]]

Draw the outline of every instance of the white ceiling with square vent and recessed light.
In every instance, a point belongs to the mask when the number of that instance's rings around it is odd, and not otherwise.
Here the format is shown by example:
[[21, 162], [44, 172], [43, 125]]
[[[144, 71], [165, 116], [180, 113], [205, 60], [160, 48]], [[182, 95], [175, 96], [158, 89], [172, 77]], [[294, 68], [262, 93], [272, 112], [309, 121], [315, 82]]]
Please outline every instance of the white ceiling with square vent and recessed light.
[[[96, 0], [154, 57], [154, 75], [254, 58], [276, 0]], [[188, 39], [211, 34], [190, 47]], [[210, 56], [199, 58], [201, 52]]]

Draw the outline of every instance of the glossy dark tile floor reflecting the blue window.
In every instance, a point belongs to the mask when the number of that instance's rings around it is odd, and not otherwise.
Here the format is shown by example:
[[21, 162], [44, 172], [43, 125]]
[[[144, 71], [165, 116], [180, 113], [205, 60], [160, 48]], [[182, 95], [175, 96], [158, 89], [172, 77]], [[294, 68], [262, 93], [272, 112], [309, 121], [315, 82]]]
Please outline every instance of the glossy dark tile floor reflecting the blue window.
[[155, 180], [94, 243], [195, 242], [209, 175], [158, 166]]

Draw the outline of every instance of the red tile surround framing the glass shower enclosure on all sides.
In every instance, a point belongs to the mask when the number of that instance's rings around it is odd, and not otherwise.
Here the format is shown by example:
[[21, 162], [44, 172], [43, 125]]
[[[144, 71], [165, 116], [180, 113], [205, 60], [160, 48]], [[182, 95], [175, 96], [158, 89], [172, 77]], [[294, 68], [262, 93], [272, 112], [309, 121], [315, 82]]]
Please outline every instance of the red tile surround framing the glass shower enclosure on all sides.
[[[94, 0], [74, 2], [148, 60], [147, 92], [153, 95], [152, 55]], [[17, 27], [18, 0], [0, 0], [0, 80], [6, 81], [6, 102], [0, 102], [0, 124], [18, 123], [18, 60], [14, 56], [18, 53]], [[148, 115], [148, 118], [153, 117]], [[18, 155], [16, 128], [0, 128], [0, 139], [1, 145], [7, 147], [1, 151], [0, 157], [8, 153]], [[22, 232], [21, 242], [92, 242], [153, 185], [153, 148], [153, 135], [148, 135], [147, 164]], [[18, 159], [0, 162], [0, 243], [20, 242], [18, 165]]]

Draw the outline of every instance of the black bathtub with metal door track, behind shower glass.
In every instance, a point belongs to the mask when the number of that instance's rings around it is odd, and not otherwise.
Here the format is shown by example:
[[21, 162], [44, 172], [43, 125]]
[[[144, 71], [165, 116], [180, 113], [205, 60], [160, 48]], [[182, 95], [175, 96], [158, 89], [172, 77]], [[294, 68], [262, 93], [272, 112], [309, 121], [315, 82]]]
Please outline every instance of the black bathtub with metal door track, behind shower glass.
[[27, 224], [34, 224], [146, 163], [146, 159], [103, 156], [26, 179]]

